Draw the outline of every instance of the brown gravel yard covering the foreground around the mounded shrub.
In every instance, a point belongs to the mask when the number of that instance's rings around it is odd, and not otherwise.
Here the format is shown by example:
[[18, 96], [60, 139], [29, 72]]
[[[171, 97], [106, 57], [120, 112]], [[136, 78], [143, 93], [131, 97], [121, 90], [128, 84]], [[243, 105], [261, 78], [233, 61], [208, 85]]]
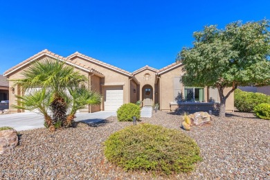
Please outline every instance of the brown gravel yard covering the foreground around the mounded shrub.
[[132, 123], [116, 117], [96, 125], [48, 132], [34, 129], [20, 132], [14, 153], [0, 156], [1, 179], [270, 179], [270, 120], [253, 114], [214, 116], [211, 126], [180, 129], [181, 116], [163, 111], [140, 123], [179, 129], [195, 139], [203, 161], [195, 171], [170, 177], [145, 172], [125, 172], [105, 160], [102, 143]]

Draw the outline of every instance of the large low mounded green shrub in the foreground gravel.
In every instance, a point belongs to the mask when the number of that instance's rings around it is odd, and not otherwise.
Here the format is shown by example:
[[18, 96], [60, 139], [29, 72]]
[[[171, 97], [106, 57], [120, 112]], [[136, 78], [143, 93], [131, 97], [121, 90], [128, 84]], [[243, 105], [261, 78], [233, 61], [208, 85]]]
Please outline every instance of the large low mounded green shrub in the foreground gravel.
[[132, 125], [111, 134], [105, 141], [105, 156], [125, 170], [172, 174], [194, 169], [201, 160], [199, 147], [177, 129], [158, 125]]

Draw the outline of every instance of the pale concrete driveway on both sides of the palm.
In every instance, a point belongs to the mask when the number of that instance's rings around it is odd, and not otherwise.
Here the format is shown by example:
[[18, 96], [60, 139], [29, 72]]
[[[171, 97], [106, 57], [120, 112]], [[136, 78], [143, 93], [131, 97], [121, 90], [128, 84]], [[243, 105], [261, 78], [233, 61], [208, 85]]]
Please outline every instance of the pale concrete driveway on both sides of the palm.
[[[115, 111], [98, 111], [91, 114], [77, 113], [75, 121], [82, 121], [84, 123], [97, 123], [105, 120], [109, 116], [116, 116]], [[1, 114], [0, 127], [13, 127], [17, 131], [35, 129], [44, 127], [43, 116], [33, 113], [17, 113], [17, 114]]]

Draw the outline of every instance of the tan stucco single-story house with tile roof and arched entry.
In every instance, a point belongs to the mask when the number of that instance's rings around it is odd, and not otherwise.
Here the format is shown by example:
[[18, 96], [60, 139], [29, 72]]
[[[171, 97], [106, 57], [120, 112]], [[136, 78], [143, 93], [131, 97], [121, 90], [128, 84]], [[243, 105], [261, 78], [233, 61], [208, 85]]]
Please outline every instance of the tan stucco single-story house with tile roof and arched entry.
[[[89, 113], [95, 111], [116, 111], [124, 103], [136, 102], [138, 100], [143, 101], [143, 106], [152, 106], [155, 103], [159, 103], [162, 111], [174, 111], [186, 102], [190, 102], [190, 105], [194, 105], [193, 107], [197, 110], [199, 110], [198, 104], [219, 102], [217, 89], [184, 87], [181, 83], [183, 64], [175, 62], [159, 70], [150, 66], [144, 66], [130, 73], [78, 52], [68, 57], [62, 57], [44, 50], [12, 67], [4, 75], [10, 80], [23, 78], [21, 72], [30, 66], [31, 62], [43, 60], [46, 57], [56, 58], [74, 66], [75, 70], [80, 71], [81, 74], [89, 79], [89, 89], [102, 94], [101, 105], [89, 105], [80, 111]], [[13, 85], [12, 83], [10, 82], [9, 84], [10, 88]], [[17, 86], [13, 90], [14, 93], [9, 95], [10, 105], [16, 104], [15, 95], [22, 94], [21, 89]], [[183, 102], [183, 99], [185, 99], [185, 102]], [[233, 100], [232, 93], [226, 102], [226, 111], [233, 111]], [[20, 109], [10, 107], [10, 112], [20, 111]]]

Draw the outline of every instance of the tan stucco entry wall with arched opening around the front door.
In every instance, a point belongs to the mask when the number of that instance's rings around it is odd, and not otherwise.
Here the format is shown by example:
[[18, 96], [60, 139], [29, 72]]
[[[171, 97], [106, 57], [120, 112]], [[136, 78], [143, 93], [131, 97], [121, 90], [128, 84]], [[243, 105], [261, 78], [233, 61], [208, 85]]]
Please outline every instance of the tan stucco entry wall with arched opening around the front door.
[[[149, 80], [145, 80], [144, 78], [144, 75], [146, 73], [149, 73], [150, 74], [150, 78]], [[147, 84], [149, 84], [152, 89], [153, 89], [153, 102], [156, 102], [156, 96], [155, 96], [155, 92], [158, 91], [158, 89], [156, 89], [156, 86], [154, 84], [155, 82], [155, 75], [156, 75], [156, 72], [154, 71], [151, 71], [149, 69], [145, 69], [144, 71], [141, 71], [139, 73], [136, 73], [135, 74], [135, 78], [138, 80], [138, 82], [140, 82], [140, 100], [143, 100], [143, 87]]]

